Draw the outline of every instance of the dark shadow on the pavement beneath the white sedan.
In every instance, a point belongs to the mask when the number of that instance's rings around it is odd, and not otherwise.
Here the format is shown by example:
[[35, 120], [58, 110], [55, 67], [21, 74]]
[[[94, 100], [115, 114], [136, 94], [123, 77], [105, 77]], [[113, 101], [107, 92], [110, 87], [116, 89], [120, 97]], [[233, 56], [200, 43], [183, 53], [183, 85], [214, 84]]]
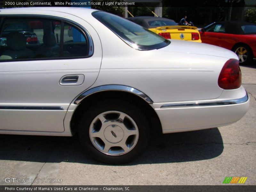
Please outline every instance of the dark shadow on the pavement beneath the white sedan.
[[[102, 164], [84, 153], [78, 137], [25, 136], [0, 134], [0, 160]], [[218, 128], [161, 134], [152, 137], [146, 151], [124, 165], [159, 164], [212, 159], [223, 151]]]

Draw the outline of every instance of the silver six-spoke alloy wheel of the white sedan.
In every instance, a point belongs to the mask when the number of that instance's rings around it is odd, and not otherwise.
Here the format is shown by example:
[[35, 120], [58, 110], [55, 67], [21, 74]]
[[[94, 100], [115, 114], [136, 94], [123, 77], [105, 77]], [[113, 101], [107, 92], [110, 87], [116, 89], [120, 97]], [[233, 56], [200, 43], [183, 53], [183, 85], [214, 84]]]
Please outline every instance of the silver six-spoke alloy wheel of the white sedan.
[[96, 116], [89, 129], [95, 148], [110, 156], [130, 152], [137, 144], [139, 130], [135, 121], [120, 111], [106, 111]]

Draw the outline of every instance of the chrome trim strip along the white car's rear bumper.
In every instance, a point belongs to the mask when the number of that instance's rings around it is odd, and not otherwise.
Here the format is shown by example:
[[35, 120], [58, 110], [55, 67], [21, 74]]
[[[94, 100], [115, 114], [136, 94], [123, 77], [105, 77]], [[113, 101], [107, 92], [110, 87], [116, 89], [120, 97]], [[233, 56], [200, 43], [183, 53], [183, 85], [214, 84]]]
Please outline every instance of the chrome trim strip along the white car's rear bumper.
[[240, 99], [224, 100], [224, 101], [209, 101], [209, 102], [195, 102], [195, 103], [175, 103], [162, 105], [160, 108], [186, 108], [186, 107], [209, 107], [209, 106], [221, 106], [221, 105], [233, 105], [241, 104], [248, 101], [248, 93]]

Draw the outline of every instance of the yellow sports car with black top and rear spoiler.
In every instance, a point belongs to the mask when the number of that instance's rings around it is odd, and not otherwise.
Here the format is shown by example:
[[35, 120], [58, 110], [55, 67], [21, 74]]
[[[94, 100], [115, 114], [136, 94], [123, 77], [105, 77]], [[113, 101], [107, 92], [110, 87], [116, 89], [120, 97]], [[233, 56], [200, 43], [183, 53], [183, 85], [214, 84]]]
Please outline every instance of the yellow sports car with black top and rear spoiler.
[[197, 27], [179, 26], [174, 20], [162, 17], [129, 17], [128, 20], [163, 36], [166, 39], [178, 39], [202, 43]]

